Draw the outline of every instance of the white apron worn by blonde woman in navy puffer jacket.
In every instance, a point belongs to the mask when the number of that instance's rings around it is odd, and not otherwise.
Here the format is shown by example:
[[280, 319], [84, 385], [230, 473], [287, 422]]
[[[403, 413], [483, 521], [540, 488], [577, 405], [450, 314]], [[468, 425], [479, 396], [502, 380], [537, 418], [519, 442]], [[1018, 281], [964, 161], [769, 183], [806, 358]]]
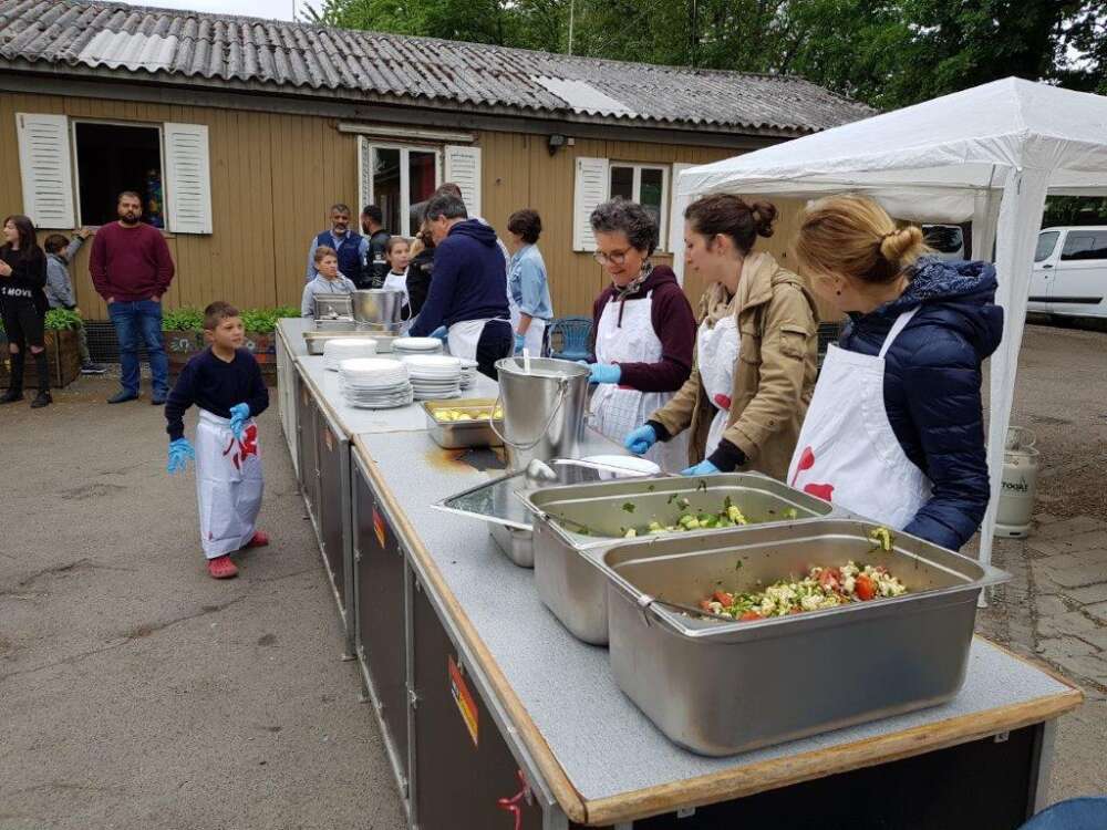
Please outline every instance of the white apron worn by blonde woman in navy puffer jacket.
[[899, 315], [877, 357], [827, 350], [788, 467], [793, 487], [893, 530], [907, 527], [931, 494], [884, 409], [884, 355], [918, 310]]

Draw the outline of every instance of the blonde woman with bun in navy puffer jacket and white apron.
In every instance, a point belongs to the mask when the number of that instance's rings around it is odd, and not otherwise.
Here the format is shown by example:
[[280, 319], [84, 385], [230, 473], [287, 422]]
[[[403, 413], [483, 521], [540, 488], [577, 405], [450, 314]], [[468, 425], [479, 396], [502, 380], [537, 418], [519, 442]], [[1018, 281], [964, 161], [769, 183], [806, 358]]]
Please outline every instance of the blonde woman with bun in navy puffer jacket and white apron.
[[809, 206], [796, 253], [850, 321], [823, 364], [788, 483], [958, 550], [990, 492], [980, 390], [1003, 334], [995, 269], [925, 256], [919, 228], [860, 196]]

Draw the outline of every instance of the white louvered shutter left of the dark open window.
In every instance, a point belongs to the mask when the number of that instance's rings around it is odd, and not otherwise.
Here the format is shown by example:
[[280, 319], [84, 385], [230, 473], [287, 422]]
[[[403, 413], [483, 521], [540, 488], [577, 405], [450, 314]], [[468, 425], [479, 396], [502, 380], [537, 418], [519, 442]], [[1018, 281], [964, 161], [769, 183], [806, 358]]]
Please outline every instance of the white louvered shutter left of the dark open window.
[[15, 113], [23, 212], [37, 228], [72, 228], [73, 159], [69, 118], [64, 115]]

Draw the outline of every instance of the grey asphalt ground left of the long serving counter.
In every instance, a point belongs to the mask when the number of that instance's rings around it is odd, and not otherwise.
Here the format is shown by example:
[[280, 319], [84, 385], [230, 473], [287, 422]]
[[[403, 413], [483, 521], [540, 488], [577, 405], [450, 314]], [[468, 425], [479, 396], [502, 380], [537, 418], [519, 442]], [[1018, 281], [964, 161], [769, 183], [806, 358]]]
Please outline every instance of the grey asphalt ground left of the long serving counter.
[[204, 570], [161, 409], [0, 408], [0, 828], [404, 826], [276, 409], [269, 548]]

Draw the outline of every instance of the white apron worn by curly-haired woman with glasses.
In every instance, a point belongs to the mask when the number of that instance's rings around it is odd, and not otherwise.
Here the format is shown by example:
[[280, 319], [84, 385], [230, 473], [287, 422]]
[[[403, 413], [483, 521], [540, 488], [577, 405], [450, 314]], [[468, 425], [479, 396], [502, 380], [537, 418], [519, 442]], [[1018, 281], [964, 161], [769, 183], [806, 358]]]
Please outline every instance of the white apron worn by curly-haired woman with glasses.
[[[622, 325], [619, 325], [619, 310]], [[596, 360], [599, 363], [656, 363], [662, 356], [661, 340], [653, 331], [653, 292], [641, 300], [611, 300], [600, 315], [596, 332]], [[613, 383], [601, 383], [590, 404], [592, 428], [622, 444], [627, 433], [642, 426], [653, 412], [664, 406], [672, 392], [640, 392]], [[687, 434], [658, 442], [645, 454], [666, 473], [680, 473], [689, 466]]]

